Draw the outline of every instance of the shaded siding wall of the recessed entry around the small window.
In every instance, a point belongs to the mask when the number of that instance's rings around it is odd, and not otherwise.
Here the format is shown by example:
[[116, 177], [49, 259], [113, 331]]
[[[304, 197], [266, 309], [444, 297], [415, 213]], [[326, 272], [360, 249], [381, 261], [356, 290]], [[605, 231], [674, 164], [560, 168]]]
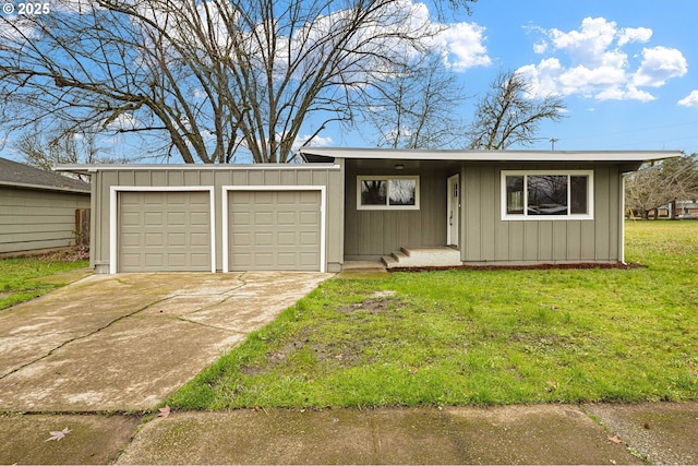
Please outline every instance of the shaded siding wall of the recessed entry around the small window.
[[[450, 172], [443, 165], [411, 167], [402, 170], [381, 168], [345, 160], [345, 259], [376, 260], [401, 247], [446, 246], [446, 179]], [[381, 165], [381, 164], [376, 164]], [[419, 176], [419, 210], [358, 210], [357, 177]]]

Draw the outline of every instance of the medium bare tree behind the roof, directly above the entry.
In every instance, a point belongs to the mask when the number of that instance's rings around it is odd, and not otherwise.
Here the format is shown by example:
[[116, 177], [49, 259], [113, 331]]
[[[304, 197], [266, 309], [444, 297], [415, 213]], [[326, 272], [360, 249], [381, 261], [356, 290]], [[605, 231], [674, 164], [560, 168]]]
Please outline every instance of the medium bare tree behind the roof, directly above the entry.
[[466, 130], [455, 111], [465, 100], [456, 75], [437, 55], [404, 67], [363, 97], [364, 118], [378, 133], [376, 145], [390, 148], [453, 148]]

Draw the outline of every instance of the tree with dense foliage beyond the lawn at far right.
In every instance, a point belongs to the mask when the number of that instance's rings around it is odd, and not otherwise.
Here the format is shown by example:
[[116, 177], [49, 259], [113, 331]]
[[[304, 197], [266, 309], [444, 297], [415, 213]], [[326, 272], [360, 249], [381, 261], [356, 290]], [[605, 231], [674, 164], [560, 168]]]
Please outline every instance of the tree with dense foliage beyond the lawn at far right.
[[628, 208], [639, 211], [642, 218], [650, 212], [655, 216], [659, 207], [676, 201], [698, 196], [698, 155], [672, 158], [648, 164], [628, 176], [625, 182], [625, 202]]

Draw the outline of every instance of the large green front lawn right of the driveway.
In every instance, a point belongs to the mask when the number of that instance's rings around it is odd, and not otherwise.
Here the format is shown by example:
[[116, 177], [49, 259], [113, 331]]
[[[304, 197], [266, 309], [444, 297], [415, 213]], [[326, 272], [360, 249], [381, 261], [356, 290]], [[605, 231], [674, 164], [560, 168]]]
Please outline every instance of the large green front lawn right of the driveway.
[[698, 223], [628, 223], [629, 270], [332, 279], [177, 408], [698, 399]]

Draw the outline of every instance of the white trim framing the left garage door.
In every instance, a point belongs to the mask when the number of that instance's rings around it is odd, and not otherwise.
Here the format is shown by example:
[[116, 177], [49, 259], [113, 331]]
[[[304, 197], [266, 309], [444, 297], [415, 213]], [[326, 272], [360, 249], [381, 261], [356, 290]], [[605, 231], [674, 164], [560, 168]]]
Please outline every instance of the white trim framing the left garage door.
[[210, 272], [216, 273], [216, 202], [214, 199], [214, 187], [136, 187], [136, 186], [112, 186], [109, 189], [109, 273], [116, 274], [118, 268], [117, 260], [119, 259], [118, 251], [118, 196], [120, 192], [130, 191], [167, 191], [167, 192], [192, 192], [192, 191], [208, 191], [209, 193], [209, 217], [210, 217]]

